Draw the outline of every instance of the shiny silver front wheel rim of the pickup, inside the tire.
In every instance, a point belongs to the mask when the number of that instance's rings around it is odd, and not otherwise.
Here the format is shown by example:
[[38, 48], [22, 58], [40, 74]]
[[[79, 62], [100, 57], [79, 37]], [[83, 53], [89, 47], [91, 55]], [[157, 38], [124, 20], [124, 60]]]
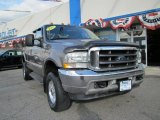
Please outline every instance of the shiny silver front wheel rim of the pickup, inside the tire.
[[55, 91], [54, 83], [52, 80], [49, 82], [49, 85], [48, 85], [48, 93], [49, 93], [49, 98], [50, 98], [52, 104], [55, 105], [56, 91]]

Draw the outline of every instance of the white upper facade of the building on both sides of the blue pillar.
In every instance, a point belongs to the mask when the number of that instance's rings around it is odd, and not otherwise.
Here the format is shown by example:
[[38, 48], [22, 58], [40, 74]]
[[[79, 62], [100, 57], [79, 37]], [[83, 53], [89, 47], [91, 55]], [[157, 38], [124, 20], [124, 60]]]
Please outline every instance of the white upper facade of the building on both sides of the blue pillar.
[[[160, 11], [159, 0], [80, 0], [81, 22], [88, 19], [116, 19]], [[44, 24], [69, 24], [70, 6], [68, 2], [32, 15], [0, 25], [0, 33], [12, 33], [22, 36]]]

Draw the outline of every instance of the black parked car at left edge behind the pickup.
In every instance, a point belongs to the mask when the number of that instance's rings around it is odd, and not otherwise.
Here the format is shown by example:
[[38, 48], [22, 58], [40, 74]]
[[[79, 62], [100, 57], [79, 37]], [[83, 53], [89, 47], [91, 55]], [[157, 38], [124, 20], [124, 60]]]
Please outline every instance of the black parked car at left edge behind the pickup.
[[0, 69], [11, 67], [22, 67], [21, 50], [0, 50]]

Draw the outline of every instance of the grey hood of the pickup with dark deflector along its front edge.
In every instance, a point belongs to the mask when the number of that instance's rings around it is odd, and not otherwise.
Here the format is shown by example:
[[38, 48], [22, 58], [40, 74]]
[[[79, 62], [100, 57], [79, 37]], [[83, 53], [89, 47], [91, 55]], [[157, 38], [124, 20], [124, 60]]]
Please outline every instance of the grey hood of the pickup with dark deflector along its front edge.
[[138, 44], [129, 43], [129, 42], [118, 42], [118, 41], [109, 41], [109, 40], [56, 40], [56, 43], [59, 43], [61, 47], [64, 48], [64, 53], [79, 51], [79, 50], [88, 50], [91, 47], [96, 46], [129, 46], [129, 47], [139, 47]]

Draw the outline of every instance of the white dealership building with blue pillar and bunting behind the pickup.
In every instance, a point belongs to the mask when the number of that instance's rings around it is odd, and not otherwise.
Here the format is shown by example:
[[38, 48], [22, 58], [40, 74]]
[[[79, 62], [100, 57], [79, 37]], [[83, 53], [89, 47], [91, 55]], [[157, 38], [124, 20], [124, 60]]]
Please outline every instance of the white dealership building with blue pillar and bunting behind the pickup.
[[1, 24], [0, 42], [50, 23], [83, 26], [102, 39], [137, 43], [143, 63], [160, 66], [159, 0], [69, 0]]

